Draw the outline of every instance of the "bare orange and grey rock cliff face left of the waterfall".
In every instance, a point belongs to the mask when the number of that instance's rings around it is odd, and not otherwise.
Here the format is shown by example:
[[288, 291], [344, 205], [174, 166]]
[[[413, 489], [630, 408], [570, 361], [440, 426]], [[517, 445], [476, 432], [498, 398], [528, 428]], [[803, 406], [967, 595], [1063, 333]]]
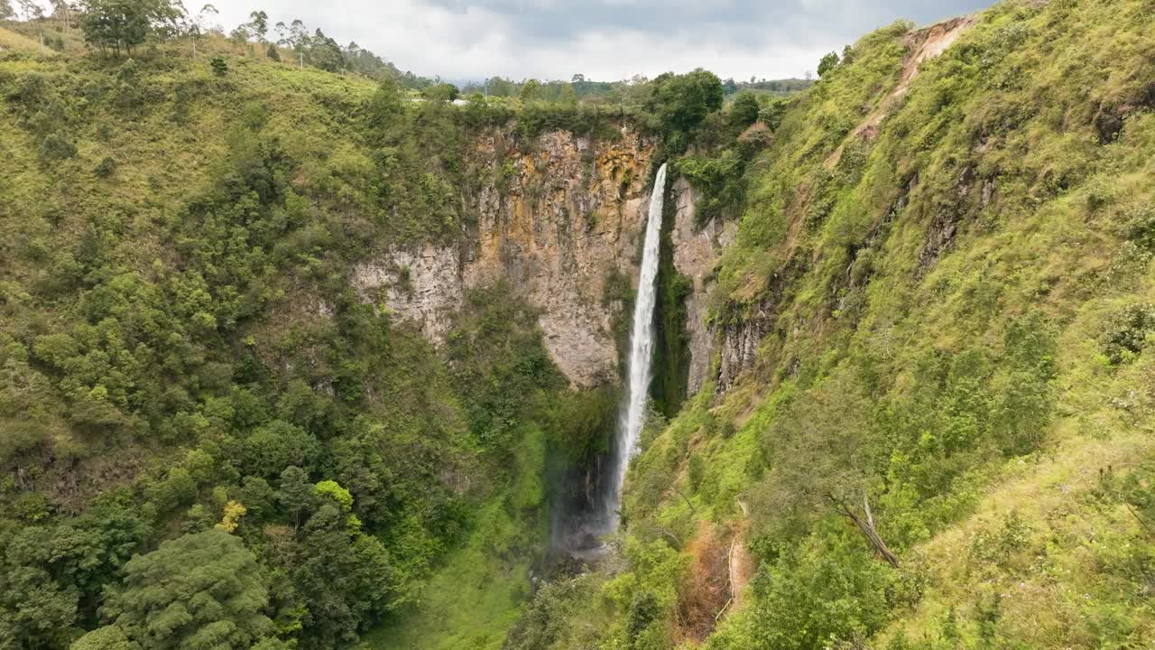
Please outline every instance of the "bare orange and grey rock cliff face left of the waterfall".
[[356, 269], [356, 288], [438, 344], [469, 288], [505, 282], [541, 310], [546, 348], [574, 385], [612, 381], [623, 304], [606, 282], [636, 275], [653, 149], [628, 128], [612, 140], [556, 131], [528, 145], [490, 132], [467, 155], [486, 179], [465, 197], [476, 231], [454, 245], [386, 251]]

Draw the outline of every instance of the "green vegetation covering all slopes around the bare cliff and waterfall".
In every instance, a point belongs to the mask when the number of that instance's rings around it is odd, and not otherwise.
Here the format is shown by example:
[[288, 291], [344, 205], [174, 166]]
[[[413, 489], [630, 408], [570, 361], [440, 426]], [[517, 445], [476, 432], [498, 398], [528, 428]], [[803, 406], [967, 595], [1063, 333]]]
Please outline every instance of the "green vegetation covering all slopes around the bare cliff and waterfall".
[[[0, 647], [1155, 640], [1146, 0], [900, 22], [813, 81], [462, 88], [262, 10], [53, 7], [0, 0]], [[353, 288], [478, 237], [477, 142], [554, 132], [643, 134], [732, 234], [593, 566], [550, 509], [620, 386], [500, 281], [440, 342]]]

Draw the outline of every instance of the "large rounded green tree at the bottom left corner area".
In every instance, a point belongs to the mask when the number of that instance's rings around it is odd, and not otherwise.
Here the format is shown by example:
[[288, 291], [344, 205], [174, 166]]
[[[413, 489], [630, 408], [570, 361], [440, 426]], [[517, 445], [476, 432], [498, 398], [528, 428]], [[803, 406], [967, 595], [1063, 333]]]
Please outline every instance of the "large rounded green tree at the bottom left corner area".
[[[165, 541], [125, 564], [122, 586], [105, 591], [106, 627], [141, 650], [247, 649], [273, 634], [264, 615], [269, 579], [239, 538], [219, 530]], [[114, 638], [104, 628], [91, 638]], [[87, 640], [87, 641], [85, 641]]]

